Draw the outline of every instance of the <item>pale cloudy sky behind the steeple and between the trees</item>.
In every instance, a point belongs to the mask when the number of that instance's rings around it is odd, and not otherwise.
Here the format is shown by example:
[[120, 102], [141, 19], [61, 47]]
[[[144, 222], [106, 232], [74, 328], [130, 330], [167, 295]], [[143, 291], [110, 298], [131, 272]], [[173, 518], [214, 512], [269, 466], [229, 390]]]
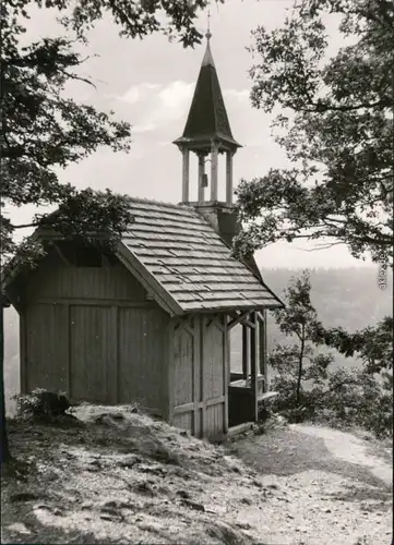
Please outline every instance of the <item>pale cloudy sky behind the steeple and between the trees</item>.
[[[211, 9], [211, 48], [226, 102], [234, 137], [242, 144], [234, 159], [234, 181], [264, 174], [270, 168], [286, 167], [284, 152], [274, 142], [272, 116], [253, 109], [249, 94], [252, 64], [251, 29], [259, 24], [268, 29], [280, 26], [292, 0], [226, 0]], [[205, 32], [206, 13], [198, 27]], [[205, 44], [183, 49], [160, 35], [126, 39], [110, 19], [99, 22], [88, 34], [85, 55], [92, 56], [81, 75], [89, 76], [96, 89], [73, 82], [68, 93], [75, 99], [105, 111], [115, 110], [119, 120], [130, 122], [133, 143], [130, 153], [99, 149], [84, 161], [61, 172], [61, 180], [77, 187], [106, 187], [131, 196], [170, 203], [181, 199], [181, 155], [172, 144], [181, 136]], [[35, 9], [26, 40], [59, 35], [59, 24], [50, 10]], [[342, 45], [333, 26], [332, 47]], [[196, 194], [196, 158], [191, 161], [191, 198]], [[194, 185], [193, 185], [194, 181]], [[225, 168], [219, 164], [219, 198], [225, 192]], [[222, 189], [222, 192], [220, 192]], [[25, 223], [33, 207], [12, 213]], [[22, 232], [21, 232], [22, 234]], [[26, 232], [23, 232], [26, 234]], [[310, 243], [277, 243], [256, 253], [264, 267], [348, 267], [370, 265], [354, 259], [346, 246], [313, 250]]]

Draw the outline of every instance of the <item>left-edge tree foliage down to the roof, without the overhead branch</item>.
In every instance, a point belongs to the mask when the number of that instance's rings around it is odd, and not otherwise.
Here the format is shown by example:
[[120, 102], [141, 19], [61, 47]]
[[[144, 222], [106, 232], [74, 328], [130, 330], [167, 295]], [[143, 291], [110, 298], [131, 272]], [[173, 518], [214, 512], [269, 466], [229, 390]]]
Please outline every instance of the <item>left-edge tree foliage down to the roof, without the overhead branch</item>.
[[[2, 147], [1, 246], [3, 258], [16, 252], [13, 234], [21, 227], [50, 226], [69, 234], [106, 230], [110, 239], [132, 221], [126, 197], [109, 190], [77, 191], [61, 184], [59, 169], [79, 162], [100, 146], [127, 152], [130, 126], [114, 113], [64, 97], [65, 84], [80, 80], [83, 60], [72, 40], [43, 38], [22, 46], [28, 19], [26, 3], [1, 4], [2, 20]], [[87, 82], [88, 83], [88, 82]], [[5, 206], [59, 205], [57, 215], [36, 215], [29, 226], [16, 226], [4, 216]], [[108, 214], [109, 211], [109, 214]], [[39, 246], [24, 241], [20, 258], [39, 256]]]

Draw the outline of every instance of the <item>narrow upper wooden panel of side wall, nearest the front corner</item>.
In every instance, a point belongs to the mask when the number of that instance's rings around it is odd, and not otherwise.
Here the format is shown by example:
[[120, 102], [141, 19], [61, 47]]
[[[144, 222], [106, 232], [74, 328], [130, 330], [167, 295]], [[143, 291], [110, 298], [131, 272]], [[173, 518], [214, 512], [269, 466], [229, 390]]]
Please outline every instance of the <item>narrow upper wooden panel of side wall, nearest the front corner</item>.
[[175, 405], [193, 401], [194, 338], [180, 325], [174, 338]]

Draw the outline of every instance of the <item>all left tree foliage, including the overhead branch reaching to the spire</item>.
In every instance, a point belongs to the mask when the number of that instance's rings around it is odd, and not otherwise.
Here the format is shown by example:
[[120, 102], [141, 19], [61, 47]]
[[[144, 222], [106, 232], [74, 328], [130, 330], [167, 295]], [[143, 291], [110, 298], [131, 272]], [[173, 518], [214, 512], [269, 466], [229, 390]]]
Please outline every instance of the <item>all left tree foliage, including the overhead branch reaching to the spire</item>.
[[[116, 245], [121, 233], [132, 223], [126, 195], [109, 190], [77, 191], [62, 184], [59, 170], [76, 164], [102, 146], [114, 152], [128, 152], [130, 125], [117, 121], [114, 112], [65, 96], [67, 84], [81, 81], [84, 60], [76, 46], [87, 44], [87, 33], [108, 12], [126, 37], [140, 38], [164, 32], [178, 37], [183, 46], [201, 39], [194, 26], [198, 11], [205, 0], [168, 2], [147, 0], [4, 0], [0, 4], [1, 24], [1, 194], [0, 247], [1, 266], [17, 253], [17, 264], [34, 266], [44, 254], [32, 239], [15, 243], [20, 228], [44, 227], [77, 237], [85, 242], [105, 233], [109, 245]], [[26, 44], [24, 34], [34, 7], [59, 13], [59, 35]], [[80, 48], [81, 49], [81, 48]], [[28, 225], [15, 225], [7, 216], [8, 207], [24, 205], [58, 207], [53, 213], [36, 215]], [[1, 301], [1, 461], [10, 459], [5, 436], [3, 387], [3, 301]]]

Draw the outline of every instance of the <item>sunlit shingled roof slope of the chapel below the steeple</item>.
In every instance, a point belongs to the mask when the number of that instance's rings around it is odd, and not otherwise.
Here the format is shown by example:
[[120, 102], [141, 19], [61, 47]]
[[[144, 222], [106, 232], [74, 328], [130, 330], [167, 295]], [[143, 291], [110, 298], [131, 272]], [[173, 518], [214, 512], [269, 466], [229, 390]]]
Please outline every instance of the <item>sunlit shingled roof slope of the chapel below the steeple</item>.
[[283, 306], [193, 208], [135, 198], [130, 206], [135, 222], [122, 239], [123, 263], [139, 265], [174, 314]]

